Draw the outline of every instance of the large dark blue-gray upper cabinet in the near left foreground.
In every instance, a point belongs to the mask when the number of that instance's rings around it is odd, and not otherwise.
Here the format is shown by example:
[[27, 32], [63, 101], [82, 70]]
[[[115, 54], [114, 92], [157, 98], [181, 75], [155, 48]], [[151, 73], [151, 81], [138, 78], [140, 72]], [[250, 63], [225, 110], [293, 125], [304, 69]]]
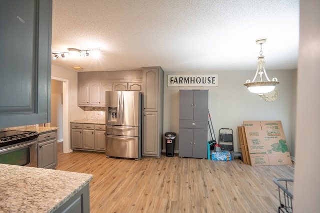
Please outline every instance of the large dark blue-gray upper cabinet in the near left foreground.
[[0, 19], [0, 128], [48, 123], [52, 0], [1, 0]]

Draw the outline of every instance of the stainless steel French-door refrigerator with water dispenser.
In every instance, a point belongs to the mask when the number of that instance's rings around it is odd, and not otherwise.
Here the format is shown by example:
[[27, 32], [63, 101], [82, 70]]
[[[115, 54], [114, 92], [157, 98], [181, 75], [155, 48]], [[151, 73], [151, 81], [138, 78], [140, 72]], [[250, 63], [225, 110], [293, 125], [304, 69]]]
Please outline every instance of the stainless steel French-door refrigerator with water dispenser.
[[141, 158], [142, 93], [105, 92], [106, 157]]

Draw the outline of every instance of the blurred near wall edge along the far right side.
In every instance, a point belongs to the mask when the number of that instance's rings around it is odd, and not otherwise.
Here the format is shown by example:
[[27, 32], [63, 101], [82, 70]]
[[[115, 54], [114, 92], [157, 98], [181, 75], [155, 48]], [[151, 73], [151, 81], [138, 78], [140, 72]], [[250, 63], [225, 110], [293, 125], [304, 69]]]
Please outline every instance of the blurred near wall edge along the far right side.
[[293, 211], [319, 212], [320, 1], [300, 0]]

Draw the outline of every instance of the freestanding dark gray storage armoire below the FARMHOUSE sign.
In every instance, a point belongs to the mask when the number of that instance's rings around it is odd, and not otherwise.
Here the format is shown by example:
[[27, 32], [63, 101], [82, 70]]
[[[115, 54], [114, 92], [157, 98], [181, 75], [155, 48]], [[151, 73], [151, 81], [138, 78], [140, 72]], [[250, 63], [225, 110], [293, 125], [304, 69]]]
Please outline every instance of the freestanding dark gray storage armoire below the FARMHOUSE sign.
[[208, 90], [180, 90], [179, 157], [207, 158]]

